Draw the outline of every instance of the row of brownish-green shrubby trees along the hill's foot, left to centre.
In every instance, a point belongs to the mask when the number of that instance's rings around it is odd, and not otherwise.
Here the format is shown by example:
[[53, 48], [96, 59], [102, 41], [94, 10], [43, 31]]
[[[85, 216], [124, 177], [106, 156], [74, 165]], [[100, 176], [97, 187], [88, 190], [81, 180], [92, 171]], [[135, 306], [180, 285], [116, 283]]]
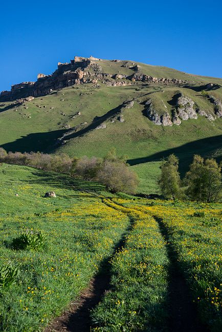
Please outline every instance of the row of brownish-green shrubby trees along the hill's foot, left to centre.
[[70, 174], [86, 181], [98, 181], [113, 193], [136, 194], [139, 183], [137, 174], [129, 168], [127, 156], [117, 156], [111, 149], [104, 158], [71, 158], [62, 153], [9, 152], [0, 148], [0, 162], [26, 165], [40, 170]]

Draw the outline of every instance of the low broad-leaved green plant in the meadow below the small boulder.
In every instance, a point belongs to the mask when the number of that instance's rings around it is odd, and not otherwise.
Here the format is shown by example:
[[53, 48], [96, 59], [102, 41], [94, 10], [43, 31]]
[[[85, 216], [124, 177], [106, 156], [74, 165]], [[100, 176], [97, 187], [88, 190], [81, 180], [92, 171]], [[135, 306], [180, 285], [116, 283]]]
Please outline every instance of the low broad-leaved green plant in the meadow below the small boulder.
[[46, 235], [39, 232], [27, 231], [22, 233], [18, 238], [13, 239], [12, 246], [14, 249], [40, 249], [46, 242]]

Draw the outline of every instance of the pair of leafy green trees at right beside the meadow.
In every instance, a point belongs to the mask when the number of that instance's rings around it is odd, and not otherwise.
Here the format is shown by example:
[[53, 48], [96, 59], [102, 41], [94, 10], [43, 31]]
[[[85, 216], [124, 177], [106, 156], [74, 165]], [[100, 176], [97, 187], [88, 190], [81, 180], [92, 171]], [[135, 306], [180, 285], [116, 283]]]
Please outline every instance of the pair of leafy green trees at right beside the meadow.
[[168, 199], [190, 199], [202, 202], [222, 200], [222, 163], [215, 159], [193, 156], [184, 179], [179, 173], [179, 159], [171, 154], [161, 165], [159, 185]]

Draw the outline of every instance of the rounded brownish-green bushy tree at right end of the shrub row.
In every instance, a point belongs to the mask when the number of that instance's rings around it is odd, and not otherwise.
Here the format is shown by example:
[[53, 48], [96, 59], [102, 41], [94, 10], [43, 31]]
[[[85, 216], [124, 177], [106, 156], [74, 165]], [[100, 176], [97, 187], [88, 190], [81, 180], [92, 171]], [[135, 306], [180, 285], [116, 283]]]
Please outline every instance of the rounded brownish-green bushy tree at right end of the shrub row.
[[135, 194], [139, 183], [137, 174], [120, 160], [104, 160], [97, 179], [112, 193]]

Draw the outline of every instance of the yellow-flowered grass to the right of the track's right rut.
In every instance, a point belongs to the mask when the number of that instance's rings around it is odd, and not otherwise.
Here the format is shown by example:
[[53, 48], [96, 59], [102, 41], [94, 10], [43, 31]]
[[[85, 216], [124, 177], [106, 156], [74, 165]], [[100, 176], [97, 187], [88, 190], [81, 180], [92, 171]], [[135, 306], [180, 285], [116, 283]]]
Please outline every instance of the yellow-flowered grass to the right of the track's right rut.
[[219, 331], [222, 325], [221, 204], [158, 201], [140, 209], [162, 220], [199, 317], [210, 331]]

